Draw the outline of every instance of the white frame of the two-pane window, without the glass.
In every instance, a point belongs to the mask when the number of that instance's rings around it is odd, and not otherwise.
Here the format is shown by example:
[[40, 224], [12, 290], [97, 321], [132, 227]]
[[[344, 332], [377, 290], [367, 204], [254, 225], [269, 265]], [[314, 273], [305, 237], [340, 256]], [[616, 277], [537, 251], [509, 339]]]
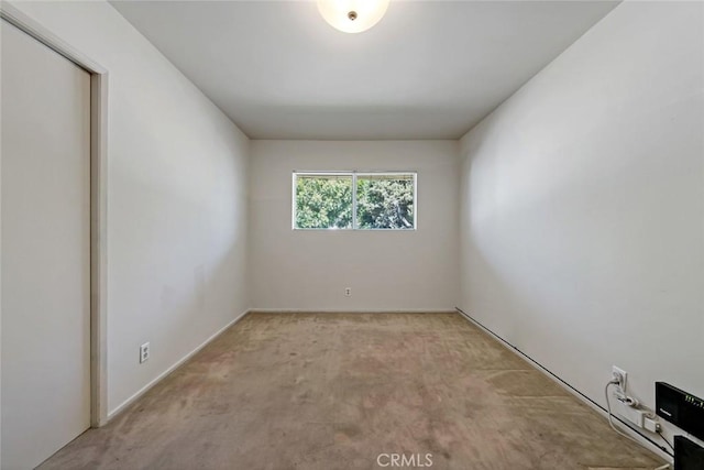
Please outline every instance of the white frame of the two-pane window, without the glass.
[[[298, 176], [344, 176], [352, 177], [352, 227], [349, 229], [338, 229], [338, 228], [298, 228], [296, 227], [296, 181]], [[414, 178], [414, 227], [410, 229], [364, 229], [358, 227], [356, 223], [356, 179], [358, 176], [413, 176]], [[407, 172], [386, 172], [386, 171], [373, 171], [373, 172], [358, 172], [358, 171], [337, 171], [337, 172], [308, 172], [308, 171], [294, 171], [292, 174], [292, 217], [290, 217], [290, 226], [292, 230], [323, 230], [323, 231], [382, 231], [382, 232], [411, 232], [418, 230], [418, 172], [416, 171], [407, 171]]]

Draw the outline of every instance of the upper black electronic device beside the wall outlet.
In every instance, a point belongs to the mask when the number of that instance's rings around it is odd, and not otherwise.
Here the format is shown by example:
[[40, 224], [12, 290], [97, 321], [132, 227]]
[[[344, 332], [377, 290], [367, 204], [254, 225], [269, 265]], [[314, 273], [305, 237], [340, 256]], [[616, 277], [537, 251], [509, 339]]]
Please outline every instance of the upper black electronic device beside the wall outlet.
[[656, 382], [656, 413], [692, 436], [704, 439], [704, 400]]

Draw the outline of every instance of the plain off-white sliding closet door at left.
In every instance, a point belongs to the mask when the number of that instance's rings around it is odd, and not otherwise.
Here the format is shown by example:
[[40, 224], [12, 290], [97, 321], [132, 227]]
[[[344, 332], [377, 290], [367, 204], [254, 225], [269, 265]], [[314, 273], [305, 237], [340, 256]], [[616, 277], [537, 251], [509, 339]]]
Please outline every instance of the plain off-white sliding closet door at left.
[[90, 424], [90, 76], [1, 24], [2, 468]]

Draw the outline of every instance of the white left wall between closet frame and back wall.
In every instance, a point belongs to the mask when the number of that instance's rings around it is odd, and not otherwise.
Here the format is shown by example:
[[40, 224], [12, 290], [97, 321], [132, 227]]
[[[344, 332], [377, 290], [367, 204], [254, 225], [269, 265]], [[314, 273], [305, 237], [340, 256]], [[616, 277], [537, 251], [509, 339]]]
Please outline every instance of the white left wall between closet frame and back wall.
[[249, 140], [107, 2], [12, 3], [110, 74], [114, 411], [249, 306]]

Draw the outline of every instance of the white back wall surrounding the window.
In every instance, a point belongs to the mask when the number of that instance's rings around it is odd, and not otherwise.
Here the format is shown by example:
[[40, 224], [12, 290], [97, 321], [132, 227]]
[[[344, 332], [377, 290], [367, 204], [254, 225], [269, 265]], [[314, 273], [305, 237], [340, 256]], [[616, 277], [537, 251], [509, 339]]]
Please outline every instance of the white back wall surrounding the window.
[[[452, 309], [458, 287], [458, 143], [252, 141], [254, 308]], [[417, 171], [416, 231], [292, 230], [294, 171]], [[344, 296], [344, 288], [352, 296]]]

